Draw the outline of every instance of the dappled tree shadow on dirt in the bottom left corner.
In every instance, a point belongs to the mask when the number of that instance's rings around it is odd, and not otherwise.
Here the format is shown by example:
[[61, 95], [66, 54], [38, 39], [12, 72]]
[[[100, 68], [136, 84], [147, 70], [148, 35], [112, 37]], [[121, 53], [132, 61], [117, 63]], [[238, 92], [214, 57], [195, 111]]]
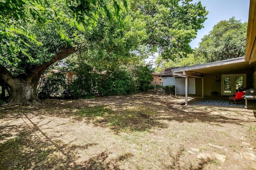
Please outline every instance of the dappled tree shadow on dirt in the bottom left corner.
[[76, 160], [80, 158], [77, 156], [78, 152], [98, 144], [74, 145], [72, 142], [65, 144], [61, 140], [47, 137], [36, 124], [33, 126], [21, 131], [16, 137], [0, 143], [0, 169], [120, 170], [120, 162], [133, 156], [124, 154], [107, 161], [108, 153], [102, 152], [77, 163]]

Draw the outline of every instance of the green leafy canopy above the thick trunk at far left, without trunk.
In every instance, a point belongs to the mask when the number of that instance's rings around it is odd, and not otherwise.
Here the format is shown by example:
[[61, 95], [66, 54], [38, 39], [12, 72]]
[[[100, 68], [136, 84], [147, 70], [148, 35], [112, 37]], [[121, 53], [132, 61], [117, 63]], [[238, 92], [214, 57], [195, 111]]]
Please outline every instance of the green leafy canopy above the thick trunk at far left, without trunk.
[[112, 20], [122, 31], [120, 11], [127, 6], [125, 1], [123, 5], [112, 0], [0, 2], [0, 65], [14, 76], [27, 75], [64, 49], [95, 42], [98, 37], [90, 35], [98, 18], [104, 18], [109, 25]]

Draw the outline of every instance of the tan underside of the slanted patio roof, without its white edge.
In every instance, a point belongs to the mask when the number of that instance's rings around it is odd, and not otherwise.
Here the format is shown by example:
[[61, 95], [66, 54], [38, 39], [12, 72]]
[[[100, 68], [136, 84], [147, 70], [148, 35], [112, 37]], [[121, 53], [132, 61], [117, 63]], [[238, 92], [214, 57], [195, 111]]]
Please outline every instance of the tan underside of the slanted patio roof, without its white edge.
[[199, 73], [199, 74], [225, 74], [226, 72], [237, 72], [240, 70], [250, 70], [255, 66], [256, 62], [249, 64], [248, 61], [231, 64], [205, 64], [204, 66], [192, 66], [184, 69], [175, 70], [176, 73], [182, 74], [183, 71], [188, 73]]

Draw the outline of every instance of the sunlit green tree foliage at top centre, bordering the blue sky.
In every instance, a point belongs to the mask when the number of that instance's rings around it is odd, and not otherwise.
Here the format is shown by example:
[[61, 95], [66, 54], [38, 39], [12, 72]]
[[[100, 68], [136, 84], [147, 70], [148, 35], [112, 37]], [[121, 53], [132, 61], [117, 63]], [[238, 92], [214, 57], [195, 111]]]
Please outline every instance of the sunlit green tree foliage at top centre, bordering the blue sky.
[[136, 14], [146, 23], [147, 44], [158, 47], [164, 59], [191, 53], [189, 43], [203, 27], [208, 12], [192, 0], [132, 1]]

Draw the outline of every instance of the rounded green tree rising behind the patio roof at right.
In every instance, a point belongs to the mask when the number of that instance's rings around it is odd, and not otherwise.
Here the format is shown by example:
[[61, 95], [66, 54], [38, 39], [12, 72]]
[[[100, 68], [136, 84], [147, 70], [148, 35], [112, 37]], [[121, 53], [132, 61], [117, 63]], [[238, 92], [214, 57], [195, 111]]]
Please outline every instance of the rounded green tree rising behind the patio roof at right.
[[195, 56], [206, 62], [220, 61], [244, 56], [247, 22], [242, 23], [234, 17], [214, 25], [212, 31], [202, 38]]

